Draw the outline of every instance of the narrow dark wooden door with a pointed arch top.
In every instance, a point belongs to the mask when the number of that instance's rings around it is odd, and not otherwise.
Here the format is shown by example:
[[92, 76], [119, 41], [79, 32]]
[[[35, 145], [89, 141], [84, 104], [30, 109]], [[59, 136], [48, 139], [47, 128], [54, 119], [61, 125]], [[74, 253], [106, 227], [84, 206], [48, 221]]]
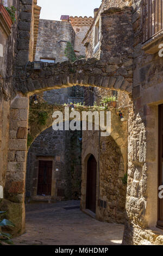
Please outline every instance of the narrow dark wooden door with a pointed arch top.
[[96, 214], [96, 176], [97, 162], [93, 155], [87, 161], [87, 181], [86, 181], [86, 209]]

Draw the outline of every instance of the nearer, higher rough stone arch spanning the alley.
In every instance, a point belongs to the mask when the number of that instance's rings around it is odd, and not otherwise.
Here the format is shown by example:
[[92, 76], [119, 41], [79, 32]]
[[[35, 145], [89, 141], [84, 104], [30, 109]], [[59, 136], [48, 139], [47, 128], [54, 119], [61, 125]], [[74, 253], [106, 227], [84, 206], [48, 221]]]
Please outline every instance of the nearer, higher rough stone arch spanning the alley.
[[[115, 62], [115, 63], [114, 63]], [[40, 62], [40, 69], [34, 69], [35, 63], [28, 63], [26, 72], [18, 71], [17, 92], [32, 95], [37, 92], [72, 86], [92, 86], [104, 89], [121, 90], [132, 94], [133, 75], [124, 72], [123, 63], [117, 59], [104, 62], [96, 58], [80, 59], [74, 63], [68, 61], [49, 64]], [[21, 76], [26, 76], [23, 81]]]

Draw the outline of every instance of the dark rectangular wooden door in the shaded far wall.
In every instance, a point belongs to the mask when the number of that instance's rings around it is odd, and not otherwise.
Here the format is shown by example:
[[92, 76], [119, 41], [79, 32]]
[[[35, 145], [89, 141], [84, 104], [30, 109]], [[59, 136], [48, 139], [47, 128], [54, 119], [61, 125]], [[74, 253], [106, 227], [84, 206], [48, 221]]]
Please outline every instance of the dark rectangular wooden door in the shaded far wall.
[[53, 161], [39, 161], [37, 194], [51, 196]]

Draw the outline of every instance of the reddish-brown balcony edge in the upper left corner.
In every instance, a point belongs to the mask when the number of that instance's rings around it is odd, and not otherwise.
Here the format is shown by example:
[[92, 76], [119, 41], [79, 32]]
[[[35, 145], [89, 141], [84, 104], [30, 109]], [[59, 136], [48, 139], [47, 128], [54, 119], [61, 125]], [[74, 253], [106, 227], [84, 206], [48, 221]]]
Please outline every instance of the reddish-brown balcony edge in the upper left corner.
[[3, 4], [0, 4], [0, 28], [2, 32], [9, 36], [11, 33], [12, 21], [8, 11], [5, 9]]

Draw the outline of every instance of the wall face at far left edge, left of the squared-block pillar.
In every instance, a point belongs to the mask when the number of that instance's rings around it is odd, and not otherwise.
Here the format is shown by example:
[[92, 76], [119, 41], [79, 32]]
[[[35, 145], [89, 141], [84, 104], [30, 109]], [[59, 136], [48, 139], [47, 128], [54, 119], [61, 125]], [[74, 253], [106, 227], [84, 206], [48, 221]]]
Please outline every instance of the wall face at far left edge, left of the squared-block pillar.
[[[18, 9], [16, 1], [10, 1]], [[8, 139], [9, 139], [9, 113], [10, 97], [12, 95], [12, 80], [14, 74], [14, 54], [16, 46], [16, 23], [9, 28], [0, 21], [0, 185], [4, 187], [5, 173], [7, 171]]]

